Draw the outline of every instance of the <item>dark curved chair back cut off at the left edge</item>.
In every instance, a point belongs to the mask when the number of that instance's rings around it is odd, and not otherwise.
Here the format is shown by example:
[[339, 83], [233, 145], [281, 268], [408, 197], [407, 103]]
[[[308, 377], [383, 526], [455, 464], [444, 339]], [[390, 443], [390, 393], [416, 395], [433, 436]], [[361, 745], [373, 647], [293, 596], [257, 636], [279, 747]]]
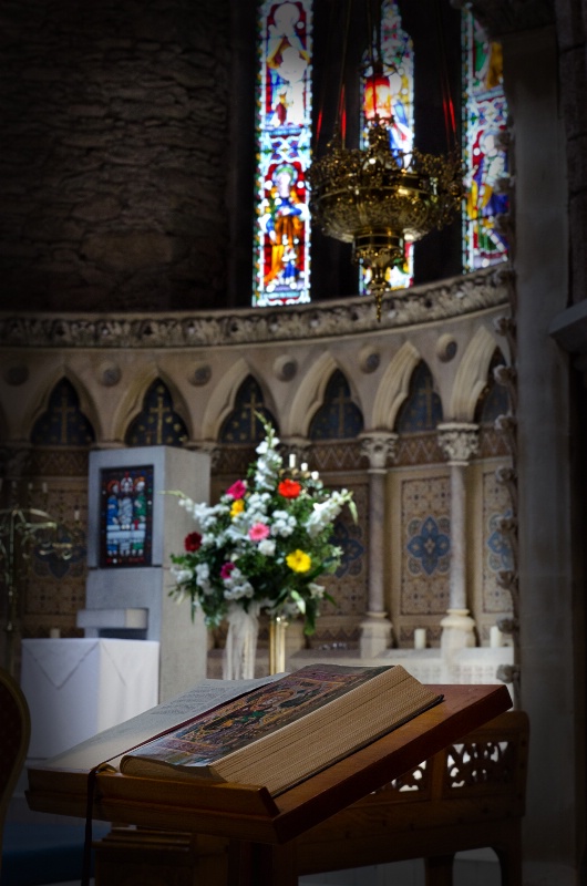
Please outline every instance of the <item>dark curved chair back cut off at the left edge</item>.
[[29, 705], [17, 681], [0, 668], [0, 868], [8, 805], [31, 736]]

